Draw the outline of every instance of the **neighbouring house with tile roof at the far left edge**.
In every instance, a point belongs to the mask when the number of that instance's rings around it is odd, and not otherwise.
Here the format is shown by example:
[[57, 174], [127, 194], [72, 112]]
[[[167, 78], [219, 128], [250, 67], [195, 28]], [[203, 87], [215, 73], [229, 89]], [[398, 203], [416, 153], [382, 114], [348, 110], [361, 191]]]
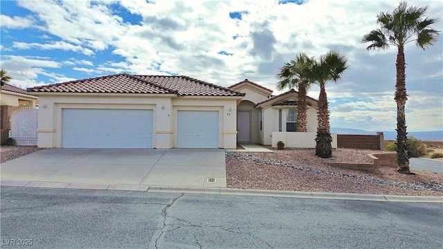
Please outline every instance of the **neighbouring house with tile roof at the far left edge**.
[[38, 97], [30, 95], [26, 90], [10, 84], [1, 86], [0, 104], [13, 107], [36, 107]]

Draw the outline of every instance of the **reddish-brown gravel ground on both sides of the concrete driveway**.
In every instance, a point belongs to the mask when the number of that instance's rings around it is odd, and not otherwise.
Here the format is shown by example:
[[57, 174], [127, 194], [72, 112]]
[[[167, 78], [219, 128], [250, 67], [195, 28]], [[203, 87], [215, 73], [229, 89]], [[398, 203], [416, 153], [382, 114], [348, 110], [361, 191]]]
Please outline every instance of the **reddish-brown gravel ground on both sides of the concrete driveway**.
[[[268, 149], [272, 149], [268, 147]], [[33, 146], [1, 146], [1, 163], [40, 150]], [[367, 154], [383, 151], [334, 149], [332, 158], [314, 156], [314, 149], [274, 153], [226, 153], [227, 187], [408, 196], [443, 196], [443, 174], [413, 170], [415, 175], [381, 167], [380, 174], [329, 167], [328, 161], [370, 163]]]

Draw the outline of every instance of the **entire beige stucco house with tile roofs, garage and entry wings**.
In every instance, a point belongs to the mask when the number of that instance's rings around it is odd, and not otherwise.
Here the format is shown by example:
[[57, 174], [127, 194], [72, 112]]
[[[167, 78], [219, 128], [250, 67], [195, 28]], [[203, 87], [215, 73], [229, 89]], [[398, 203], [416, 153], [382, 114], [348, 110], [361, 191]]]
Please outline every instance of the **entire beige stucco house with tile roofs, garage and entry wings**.
[[234, 149], [238, 142], [276, 147], [279, 140], [315, 147], [317, 100], [308, 97], [309, 132], [296, 132], [298, 92], [272, 95], [247, 79], [222, 87], [120, 73], [28, 92], [39, 97], [39, 147]]

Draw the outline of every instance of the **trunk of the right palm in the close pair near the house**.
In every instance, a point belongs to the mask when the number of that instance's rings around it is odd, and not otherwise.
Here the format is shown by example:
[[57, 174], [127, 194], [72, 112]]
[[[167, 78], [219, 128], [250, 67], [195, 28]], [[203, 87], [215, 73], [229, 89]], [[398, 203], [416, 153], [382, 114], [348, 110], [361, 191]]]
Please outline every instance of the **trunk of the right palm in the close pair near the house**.
[[316, 156], [329, 158], [332, 156], [332, 136], [329, 131], [329, 107], [327, 104], [325, 84], [320, 84], [317, 120]]

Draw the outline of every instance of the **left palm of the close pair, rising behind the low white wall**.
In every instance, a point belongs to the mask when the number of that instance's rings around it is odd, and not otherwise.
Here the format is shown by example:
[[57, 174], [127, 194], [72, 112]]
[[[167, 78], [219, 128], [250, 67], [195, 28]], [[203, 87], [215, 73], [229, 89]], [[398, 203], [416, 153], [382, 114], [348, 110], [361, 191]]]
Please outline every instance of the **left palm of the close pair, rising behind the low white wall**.
[[307, 132], [307, 90], [311, 82], [307, 79], [309, 70], [314, 64], [314, 58], [309, 58], [305, 53], [300, 53], [296, 59], [285, 63], [277, 77], [280, 80], [277, 84], [278, 90], [285, 88], [296, 88], [298, 91], [297, 101], [297, 131]]

